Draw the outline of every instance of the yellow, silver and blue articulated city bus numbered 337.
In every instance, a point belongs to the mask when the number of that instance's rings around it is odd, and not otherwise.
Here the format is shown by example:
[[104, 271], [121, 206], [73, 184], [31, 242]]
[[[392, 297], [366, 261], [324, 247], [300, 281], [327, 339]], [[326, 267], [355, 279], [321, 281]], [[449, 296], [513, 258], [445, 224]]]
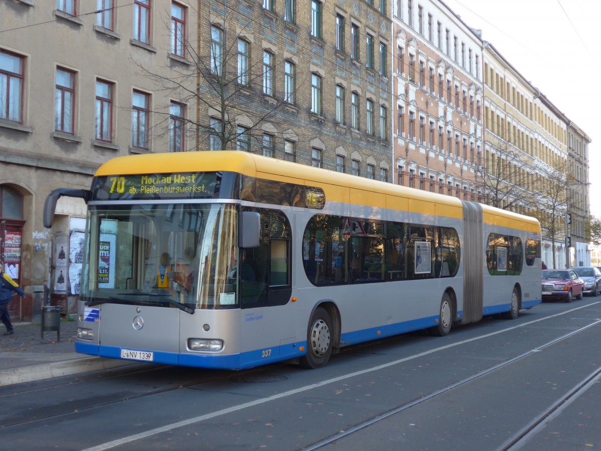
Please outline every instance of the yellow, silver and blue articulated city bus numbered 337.
[[88, 204], [77, 352], [243, 369], [541, 301], [536, 219], [245, 152], [125, 156]]

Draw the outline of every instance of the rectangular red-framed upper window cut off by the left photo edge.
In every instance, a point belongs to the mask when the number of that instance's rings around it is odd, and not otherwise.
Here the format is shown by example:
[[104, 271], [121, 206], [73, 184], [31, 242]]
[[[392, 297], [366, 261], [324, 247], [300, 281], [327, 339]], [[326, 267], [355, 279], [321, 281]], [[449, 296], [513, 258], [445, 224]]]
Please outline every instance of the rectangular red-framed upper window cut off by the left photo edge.
[[0, 119], [22, 122], [23, 61], [0, 51]]

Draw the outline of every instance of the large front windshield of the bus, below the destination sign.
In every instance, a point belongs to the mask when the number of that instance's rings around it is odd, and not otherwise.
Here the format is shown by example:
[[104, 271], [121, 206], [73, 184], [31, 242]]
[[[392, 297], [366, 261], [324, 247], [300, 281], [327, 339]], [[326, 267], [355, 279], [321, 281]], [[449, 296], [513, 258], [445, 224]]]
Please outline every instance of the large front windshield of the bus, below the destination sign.
[[81, 299], [188, 313], [238, 307], [237, 216], [231, 204], [91, 206]]

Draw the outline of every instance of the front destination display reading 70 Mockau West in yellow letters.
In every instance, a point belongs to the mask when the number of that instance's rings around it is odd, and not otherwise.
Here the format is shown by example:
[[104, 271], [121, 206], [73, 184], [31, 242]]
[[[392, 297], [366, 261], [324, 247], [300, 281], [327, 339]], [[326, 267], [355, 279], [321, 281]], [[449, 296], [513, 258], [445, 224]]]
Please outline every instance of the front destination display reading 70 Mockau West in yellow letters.
[[219, 191], [218, 173], [136, 174], [96, 177], [95, 200], [211, 198]]

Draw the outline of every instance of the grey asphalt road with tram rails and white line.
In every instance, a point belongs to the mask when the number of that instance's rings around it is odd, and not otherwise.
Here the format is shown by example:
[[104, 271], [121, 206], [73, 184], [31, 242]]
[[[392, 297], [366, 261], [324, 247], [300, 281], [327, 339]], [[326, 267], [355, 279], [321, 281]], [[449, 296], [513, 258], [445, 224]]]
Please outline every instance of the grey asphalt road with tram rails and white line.
[[343, 349], [319, 370], [136, 364], [0, 388], [2, 449], [601, 446], [601, 301]]

